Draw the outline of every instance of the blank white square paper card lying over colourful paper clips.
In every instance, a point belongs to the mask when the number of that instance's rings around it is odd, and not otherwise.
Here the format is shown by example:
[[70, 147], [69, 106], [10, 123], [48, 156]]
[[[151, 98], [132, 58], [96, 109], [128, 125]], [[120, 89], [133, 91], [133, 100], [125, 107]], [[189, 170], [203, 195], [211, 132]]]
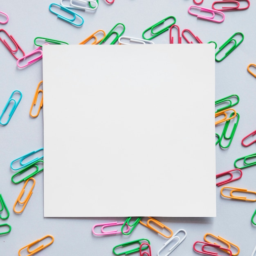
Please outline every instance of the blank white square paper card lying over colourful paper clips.
[[216, 216], [214, 54], [44, 45], [44, 216]]

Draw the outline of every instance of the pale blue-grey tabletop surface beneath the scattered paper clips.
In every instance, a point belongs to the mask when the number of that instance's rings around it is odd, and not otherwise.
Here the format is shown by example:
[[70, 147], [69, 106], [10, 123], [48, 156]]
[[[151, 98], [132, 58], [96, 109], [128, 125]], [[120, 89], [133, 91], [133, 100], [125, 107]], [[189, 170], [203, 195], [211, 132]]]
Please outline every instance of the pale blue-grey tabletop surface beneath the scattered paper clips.
[[[211, 8], [211, 2], [204, 0], [202, 5]], [[218, 47], [235, 32], [242, 32], [245, 36], [243, 43], [225, 60], [216, 63], [216, 100], [231, 94], [238, 94], [240, 97], [240, 102], [234, 107], [240, 114], [240, 120], [231, 146], [227, 150], [216, 146], [216, 173], [233, 169], [236, 158], [255, 153], [255, 145], [248, 148], [241, 145], [241, 139], [256, 129], [254, 97], [256, 80], [246, 70], [249, 63], [256, 63], [256, 4], [253, 1], [251, 1], [249, 9], [245, 11], [225, 12], [225, 21], [218, 24], [191, 16], [187, 10], [193, 4], [192, 0], [162, 0], [158, 2], [116, 0], [112, 5], [106, 4], [105, 0], [99, 0], [99, 8], [96, 11], [77, 11], [85, 20], [82, 27], [74, 27], [58, 19], [48, 9], [51, 3], [52, 1], [48, 0], [36, 2], [31, 0], [2, 1], [0, 11], [7, 13], [10, 20], [6, 25], [0, 25], [0, 28], [7, 30], [17, 40], [25, 53], [36, 48], [33, 41], [37, 36], [77, 44], [98, 29], [103, 29], [108, 33], [118, 22], [122, 22], [126, 26], [125, 36], [140, 38], [146, 28], [167, 16], [175, 16], [176, 24], [181, 29], [191, 29], [204, 43], [214, 40]], [[2, 33], [0, 36], [4, 37]], [[183, 43], [186, 43], [184, 39], [182, 40]], [[153, 41], [154, 43], [169, 43], [169, 33], [166, 31], [155, 37]], [[96, 223], [123, 221], [124, 218], [44, 218], [43, 173], [36, 176], [36, 186], [25, 211], [21, 214], [13, 212], [12, 207], [20, 193], [22, 184], [16, 185], [11, 182], [13, 171], [10, 168], [10, 163], [21, 155], [43, 147], [43, 111], [36, 119], [29, 116], [36, 86], [43, 79], [42, 61], [38, 61], [25, 69], [18, 69], [15, 58], [11, 56], [2, 43], [0, 44], [0, 56], [0, 109], [4, 108], [13, 90], [20, 90], [23, 94], [9, 124], [0, 127], [2, 146], [0, 193], [10, 210], [9, 219], [7, 221], [0, 220], [0, 223], [7, 222], [12, 227], [10, 234], [0, 236], [0, 254], [4, 256], [18, 255], [18, 250], [21, 247], [51, 234], [55, 238], [54, 243], [42, 252], [38, 252], [38, 255], [112, 255], [112, 248], [115, 245], [139, 238], [149, 239], [152, 245], [152, 255], [156, 255], [160, 247], [166, 242], [166, 238], [142, 225], [137, 226], [130, 236], [96, 237], [91, 232], [92, 226]], [[85, 59], [85, 61], [88, 60]], [[99, 65], [107, 65], [107, 63], [99, 63]], [[85, 70], [82, 75], [86, 79], [90, 72]], [[96, 79], [103, 81], [100, 74]], [[207, 86], [207, 81], [205, 81], [205, 86]], [[181, 99], [181, 104], [187, 105], [189, 114], [194, 115], [195, 121], [198, 118], [203, 118], [200, 115], [200, 110], [189, 108], [189, 102], [183, 102]], [[186, 118], [186, 114], [181, 113], [184, 118]], [[67, 122], [72, 122], [72, 117], [67, 117]], [[190, 125], [188, 124], [188, 132]], [[198, 130], [198, 134], [191, 134], [191, 136], [200, 136], [200, 130]], [[193, 145], [184, 146], [193, 150]], [[186, 161], [186, 156], [184, 156], [184, 161]], [[207, 171], [207, 166], [205, 169]], [[240, 180], [229, 185], [255, 191], [255, 166], [245, 168], [243, 173]], [[72, 170], [70, 170], [70, 178], [79, 179]], [[200, 177], [197, 178], [200, 179]], [[132, 189], [132, 182], [130, 185]], [[97, 189], [97, 183], [95, 183], [95, 189]], [[68, 187], [67, 193], [69, 193]], [[63, 196], [65, 197], [65, 195]], [[127, 200], [127, 207], [132, 204], [132, 200], [141, 200], [141, 207], [143, 207], [143, 197], [146, 196], [138, 195], [137, 198], [124, 200]], [[169, 207], [168, 197], [178, 197], [179, 191], [175, 195], [163, 196], [166, 197], [166, 206]], [[240, 247], [240, 254], [242, 255], [252, 254], [256, 245], [256, 227], [251, 224], [250, 219], [256, 209], [256, 203], [222, 198], [219, 187], [216, 188], [216, 198], [216, 218], [158, 218], [174, 233], [178, 229], [185, 229], [188, 233], [184, 242], [172, 252], [173, 255], [196, 255], [197, 253], [192, 248], [193, 243], [196, 240], [203, 240], [203, 236], [207, 232], [222, 236], [235, 243]], [[186, 204], [186, 202], [180, 203]], [[152, 204], [157, 207], [157, 202], [152, 202]], [[203, 201], [202, 204], [204, 204]], [[68, 201], [67, 207], [70, 207]], [[118, 202], [116, 207], [118, 207]]]

